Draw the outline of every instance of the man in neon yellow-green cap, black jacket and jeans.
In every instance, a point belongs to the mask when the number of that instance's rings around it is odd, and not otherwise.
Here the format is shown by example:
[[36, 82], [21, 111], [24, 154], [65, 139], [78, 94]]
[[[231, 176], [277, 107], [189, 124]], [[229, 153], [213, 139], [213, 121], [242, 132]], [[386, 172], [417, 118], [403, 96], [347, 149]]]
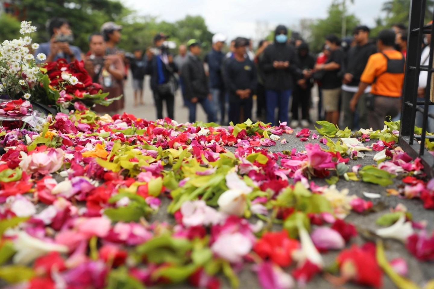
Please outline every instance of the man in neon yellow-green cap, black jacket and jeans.
[[210, 123], [215, 121], [214, 108], [204, 65], [199, 59], [202, 52], [201, 43], [196, 39], [190, 39], [187, 42], [187, 47], [190, 52], [187, 62], [182, 66], [181, 78], [185, 86], [185, 96], [188, 99], [188, 121], [190, 123], [196, 122], [196, 106], [197, 103], [200, 103], [207, 114], [207, 121]]

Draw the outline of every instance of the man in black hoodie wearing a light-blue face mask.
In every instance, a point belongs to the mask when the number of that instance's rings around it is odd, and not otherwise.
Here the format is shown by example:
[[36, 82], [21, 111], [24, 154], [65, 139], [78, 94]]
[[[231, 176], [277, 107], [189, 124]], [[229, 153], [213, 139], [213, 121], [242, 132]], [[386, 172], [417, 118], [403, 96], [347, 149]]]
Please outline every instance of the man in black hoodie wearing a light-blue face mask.
[[[302, 77], [297, 68], [295, 49], [288, 43], [288, 29], [276, 27], [274, 43], [264, 51], [261, 66], [266, 88], [266, 122], [272, 125], [288, 122], [289, 98], [294, 88], [294, 79]], [[279, 115], [276, 122], [276, 107]]]

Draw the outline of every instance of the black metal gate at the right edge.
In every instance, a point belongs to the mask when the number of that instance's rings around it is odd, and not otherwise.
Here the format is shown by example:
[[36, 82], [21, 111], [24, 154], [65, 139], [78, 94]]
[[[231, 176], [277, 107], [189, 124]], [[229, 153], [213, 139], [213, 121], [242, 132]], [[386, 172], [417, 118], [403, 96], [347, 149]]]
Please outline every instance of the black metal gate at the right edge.
[[[434, 37], [432, 24], [425, 25], [426, 0], [412, 0], [410, 4], [410, 18], [408, 24], [408, 46], [407, 46], [407, 61], [404, 80], [403, 105], [401, 113], [401, 128], [399, 133], [399, 145], [412, 157], [421, 157], [425, 167], [425, 172], [431, 178], [434, 177], [434, 156], [428, 153], [425, 149], [425, 140], [434, 139], [432, 136], [426, 135], [428, 126], [428, 118], [433, 118], [434, 115], [429, 113], [428, 107], [434, 105], [430, 101], [431, 95], [431, 75], [433, 69]], [[434, 19], [432, 15], [431, 19]], [[431, 34], [430, 59], [428, 65], [421, 65], [421, 52], [424, 34]], [[427, 71], [427, 86], [425, 88], [424, 97], [418, 97], [419, 72]], [[422, 119], [422, 134], [414, 134], [414, 124], [416, 120], [416, 112], [423, 114]], [[419, 114], [420, 115], [420, 114]]]

